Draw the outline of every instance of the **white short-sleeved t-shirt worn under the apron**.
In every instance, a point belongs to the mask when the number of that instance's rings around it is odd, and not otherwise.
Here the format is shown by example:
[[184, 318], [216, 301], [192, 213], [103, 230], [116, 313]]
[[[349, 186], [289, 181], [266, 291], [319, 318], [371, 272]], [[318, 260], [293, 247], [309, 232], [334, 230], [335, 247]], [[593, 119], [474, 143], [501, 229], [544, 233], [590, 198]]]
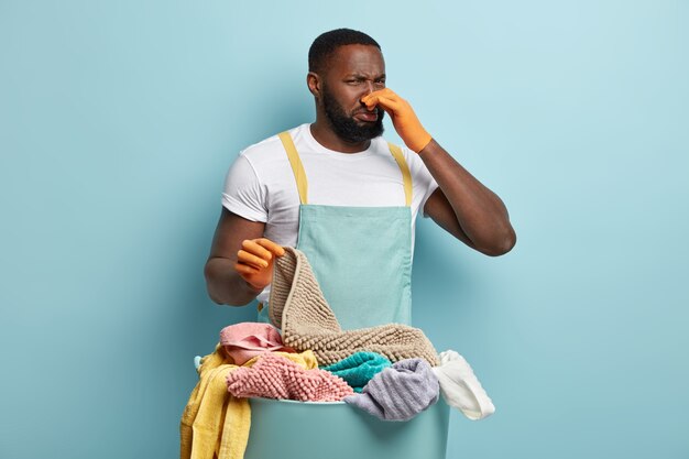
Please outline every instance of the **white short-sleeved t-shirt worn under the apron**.
[[[326, 149], [311, 135], [310, 124], [291, 129], [308, 183], [308, 204], [326, 206], [404, 206], [402, 173], [382, 138], [360, 153]], [[402, 147], [412, 174], [412, 244], [418, 210], [438, 187], [424, 162]], [[287, 153], [277, 135], [241, 151], [225, 181], [222, 205], [232, 214], [265, 223], [264, 237], [296, 247], [299, 195]], [[412, 253], [414, 245], [412, 245]], [[259, 300], [267, 299], [267, 289]]]

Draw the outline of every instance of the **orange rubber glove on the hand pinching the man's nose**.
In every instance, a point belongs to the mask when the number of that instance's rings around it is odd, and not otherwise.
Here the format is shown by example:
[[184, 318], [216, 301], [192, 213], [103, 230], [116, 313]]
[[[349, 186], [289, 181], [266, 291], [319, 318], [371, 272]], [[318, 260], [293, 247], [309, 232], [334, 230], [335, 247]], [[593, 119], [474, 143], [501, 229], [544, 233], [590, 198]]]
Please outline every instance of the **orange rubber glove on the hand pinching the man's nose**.
[[397, 96], [391, 89], [385, 88], [373, 91], [361, 98], [367, 109], [372, 111], [375, 106], [381, 106], [392, 118], [395, 130], [404, 143], [416, 153], [428, 145], [433, 139], [424, 129], [409, 102]]

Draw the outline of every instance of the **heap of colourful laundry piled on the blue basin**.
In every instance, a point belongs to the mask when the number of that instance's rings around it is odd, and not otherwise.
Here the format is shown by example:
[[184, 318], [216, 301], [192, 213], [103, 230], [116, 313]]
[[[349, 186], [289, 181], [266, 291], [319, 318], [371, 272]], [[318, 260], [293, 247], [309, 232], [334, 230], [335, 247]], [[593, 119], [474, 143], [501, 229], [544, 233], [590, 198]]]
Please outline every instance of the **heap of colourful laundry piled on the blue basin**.
[[251, 397], [343, 401], [398, 422], [440, 395], [470, 419], [495, 411], [467, 361], [452, 350], [438, 354], [420, 329], [389, 324], [342, 330], [296, 249], [285, 248], [276, 259], [269, 304], [274, 326], [228, 326], [215, 352], [200, 359], [182, 416], [182, 458], [242, 458]]

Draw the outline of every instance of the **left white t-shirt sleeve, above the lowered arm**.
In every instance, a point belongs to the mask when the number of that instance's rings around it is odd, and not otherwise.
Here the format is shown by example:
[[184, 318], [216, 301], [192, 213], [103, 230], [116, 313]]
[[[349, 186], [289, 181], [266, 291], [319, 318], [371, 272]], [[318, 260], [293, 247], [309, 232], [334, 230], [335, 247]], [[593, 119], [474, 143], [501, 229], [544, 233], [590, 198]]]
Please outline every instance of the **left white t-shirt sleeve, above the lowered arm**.
[[232, 163], [225, 179], [222, 206], [251, 221], [267, 221], [265, 187], [249, 162], [240, 154]]

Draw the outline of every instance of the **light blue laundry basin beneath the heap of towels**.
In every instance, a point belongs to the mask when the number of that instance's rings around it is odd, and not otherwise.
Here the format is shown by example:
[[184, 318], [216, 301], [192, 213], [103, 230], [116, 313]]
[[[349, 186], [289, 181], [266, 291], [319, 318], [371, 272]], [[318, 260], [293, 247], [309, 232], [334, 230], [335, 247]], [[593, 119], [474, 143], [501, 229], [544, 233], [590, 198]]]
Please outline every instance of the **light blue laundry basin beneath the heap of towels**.
[[449, 406], [380, 420], [344, 402], [251, 398], [244, 459], [445, 459]]

